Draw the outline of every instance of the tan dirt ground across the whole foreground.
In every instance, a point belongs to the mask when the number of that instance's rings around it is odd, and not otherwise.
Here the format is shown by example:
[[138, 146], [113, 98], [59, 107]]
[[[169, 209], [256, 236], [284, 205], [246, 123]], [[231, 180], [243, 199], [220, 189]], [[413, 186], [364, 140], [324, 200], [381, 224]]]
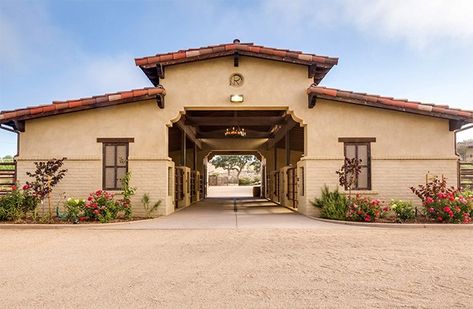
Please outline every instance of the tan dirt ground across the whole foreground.
[[472, 308], [471, 229], [0, 230], [0, 308]]

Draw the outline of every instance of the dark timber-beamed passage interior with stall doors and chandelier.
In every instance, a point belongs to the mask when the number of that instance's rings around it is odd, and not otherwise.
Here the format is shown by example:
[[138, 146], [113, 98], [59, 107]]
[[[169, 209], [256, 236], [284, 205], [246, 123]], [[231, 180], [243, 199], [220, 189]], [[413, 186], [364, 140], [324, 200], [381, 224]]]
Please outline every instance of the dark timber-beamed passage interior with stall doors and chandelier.
[[215, 156], [255, 156], [260, 162], [255, 195], [297, 208], [298, 196], [304, 194], [304, 171], [298, 167], [304, 130], [287, 109], [186, 110], [169, 127], [175, 208], [212, 195], [209, 162]]

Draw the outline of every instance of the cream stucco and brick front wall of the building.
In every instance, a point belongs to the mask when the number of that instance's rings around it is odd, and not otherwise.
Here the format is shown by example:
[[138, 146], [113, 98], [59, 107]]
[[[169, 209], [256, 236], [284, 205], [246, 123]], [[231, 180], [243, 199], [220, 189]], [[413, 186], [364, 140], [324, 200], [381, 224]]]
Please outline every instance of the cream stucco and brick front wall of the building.
[[[242, 87], [229, 86], [235, 72], [245, 78]], [[148, 192], [153, 200], [163, 200], [161, 211], [167, 214], [174, 208], [164, 177], [173, 166], [167, 147], [167, 126], [172, 121], [189, 109], [284, 109], [305, 127], [305, 156], [298, 163], [306, 168], [306, 195], [299, 203], [305, 213], [313, 211], [308, 201], [324, 183], [337, 184], [335, 170], [343, 162], [339, 137], [376, 137], [371, 146], [371, 194], [414, 198], [407, 188], [422, 183], [428, 171], [444, 174], [456, 184], [454, 135], [447, 120], [327, 100], [308, 109], [305, 90], [311, 80], [304, 66], [241, 57], [240, 66], [234, 67], [232, 57], [223, 57], [167, 67], [162, 84], [167, 93], [164, 109], [150, 100], [27, 121], [20, 137], [20, 182], [32, 160], [65, 156], [70, 171], [57, 195], [64, 191], [86, 197], [102, 184], [102, 145], [96, 139], [133, 137], [129, 159], [132, 184], [138, 187], [136, 212], [141, 209], [139, 199]], [[230, 103], [231, 94], [243, 94], [245, 101]], [[199, 164], [208, 149], [255, 150], [264, 140], [231, 143], [208, 140], [198, 153]], [[274, 164], [271, 153], [266, 151], [268, 172]], [[284, 150], [278, 150], [278, 161], [283, 158]], [[278, 167], [282, 166], [280, 162]]]

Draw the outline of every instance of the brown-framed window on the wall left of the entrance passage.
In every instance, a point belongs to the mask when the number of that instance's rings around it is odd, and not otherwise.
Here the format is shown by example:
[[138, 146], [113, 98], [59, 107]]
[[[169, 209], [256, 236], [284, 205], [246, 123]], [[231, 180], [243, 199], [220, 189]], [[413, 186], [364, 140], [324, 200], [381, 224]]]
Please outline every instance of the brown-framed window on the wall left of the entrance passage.
[[129, 142], [133, 139], [98, 138], [102, 143], [102, 188], [104, 190], [121, 190], [121, 180], [128, 172]]

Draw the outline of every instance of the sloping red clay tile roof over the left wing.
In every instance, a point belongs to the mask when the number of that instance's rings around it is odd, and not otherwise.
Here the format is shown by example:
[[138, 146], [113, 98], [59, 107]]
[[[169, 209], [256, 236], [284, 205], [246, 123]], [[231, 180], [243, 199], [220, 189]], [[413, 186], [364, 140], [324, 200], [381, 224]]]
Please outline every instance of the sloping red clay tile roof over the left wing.
[[117, 104], [135, 102], [155, 98], [157, 95], [165, 95], [162, 87], [149, 87], [129, 91], [107, 93], [90, 98], [82, 98], [68, 101], [55, 101], [52, 104], [20, 108], [11, 111], [0, 112], [0, 123], [11, 120], [25, 120], [50, 115], [64, 114], [85, 109], [113, 106]]

